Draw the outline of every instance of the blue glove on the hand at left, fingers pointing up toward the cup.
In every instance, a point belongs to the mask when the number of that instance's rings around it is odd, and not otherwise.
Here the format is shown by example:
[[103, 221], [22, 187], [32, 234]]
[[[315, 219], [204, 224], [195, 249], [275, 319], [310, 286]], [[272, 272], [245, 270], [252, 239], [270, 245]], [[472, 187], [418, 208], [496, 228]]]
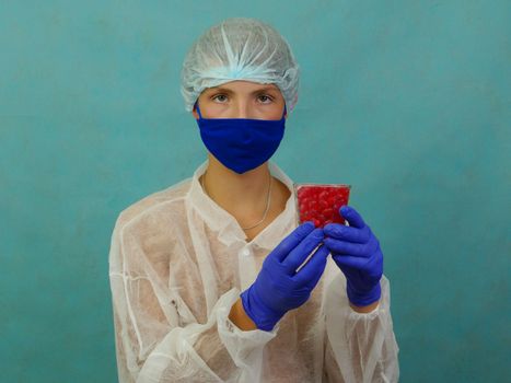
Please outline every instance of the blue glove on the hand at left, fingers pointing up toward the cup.
[[271, 330], [289, 310], [307, 301], [329, 254], [321, 244], [323, 239], [323, 229], [315, 229], [312, 222], [302, 223], [265, 258], [254, 283], [241, 293], [243, 307], [257, 328]]

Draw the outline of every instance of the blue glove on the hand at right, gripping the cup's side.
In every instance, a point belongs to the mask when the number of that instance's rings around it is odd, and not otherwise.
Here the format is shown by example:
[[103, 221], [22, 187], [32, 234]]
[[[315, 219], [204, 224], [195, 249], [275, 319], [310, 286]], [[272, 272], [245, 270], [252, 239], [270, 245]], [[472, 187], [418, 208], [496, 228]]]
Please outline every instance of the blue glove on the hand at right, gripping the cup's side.
[[324, 244], [346, 276], [349, 301], [357, 306], [365, 306], [380, 300], [382, 294], [383, 254], [380, 242], [357, 210], [342, 206], [339, 211], [349, 227], [326, 224]]

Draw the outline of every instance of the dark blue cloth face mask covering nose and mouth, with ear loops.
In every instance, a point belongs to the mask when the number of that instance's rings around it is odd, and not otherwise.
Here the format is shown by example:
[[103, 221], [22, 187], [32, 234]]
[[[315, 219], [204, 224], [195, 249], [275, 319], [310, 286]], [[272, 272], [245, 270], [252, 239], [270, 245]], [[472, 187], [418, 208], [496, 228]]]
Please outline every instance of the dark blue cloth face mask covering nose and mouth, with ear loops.
[[278, 120], [202, 118], [196, 103], [200, 137], [206, 148], [225, 167], [243, 174], [268, 161], [277, 151], [286, 127], [286, 106]]

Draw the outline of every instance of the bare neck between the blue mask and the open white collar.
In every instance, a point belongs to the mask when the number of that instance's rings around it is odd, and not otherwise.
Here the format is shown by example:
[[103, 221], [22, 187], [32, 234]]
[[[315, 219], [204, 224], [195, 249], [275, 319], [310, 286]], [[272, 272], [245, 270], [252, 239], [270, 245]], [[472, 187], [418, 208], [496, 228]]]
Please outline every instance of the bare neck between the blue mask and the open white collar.
[[270, 172], [268, 163], [237, 174], [209, 154], [205, 188], [219, 206], [235, 217], [260, 219], [266, 208]]

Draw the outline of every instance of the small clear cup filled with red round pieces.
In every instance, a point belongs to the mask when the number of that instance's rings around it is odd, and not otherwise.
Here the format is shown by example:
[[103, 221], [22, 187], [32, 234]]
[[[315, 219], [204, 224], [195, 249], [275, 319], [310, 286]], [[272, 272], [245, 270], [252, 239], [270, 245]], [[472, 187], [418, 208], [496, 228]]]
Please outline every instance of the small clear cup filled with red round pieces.
[[351, 185], [294, 184], [299, 224], [313, 221], [316, 228], [328, 223], [345, 224], [339, 209], [348, 205]]

